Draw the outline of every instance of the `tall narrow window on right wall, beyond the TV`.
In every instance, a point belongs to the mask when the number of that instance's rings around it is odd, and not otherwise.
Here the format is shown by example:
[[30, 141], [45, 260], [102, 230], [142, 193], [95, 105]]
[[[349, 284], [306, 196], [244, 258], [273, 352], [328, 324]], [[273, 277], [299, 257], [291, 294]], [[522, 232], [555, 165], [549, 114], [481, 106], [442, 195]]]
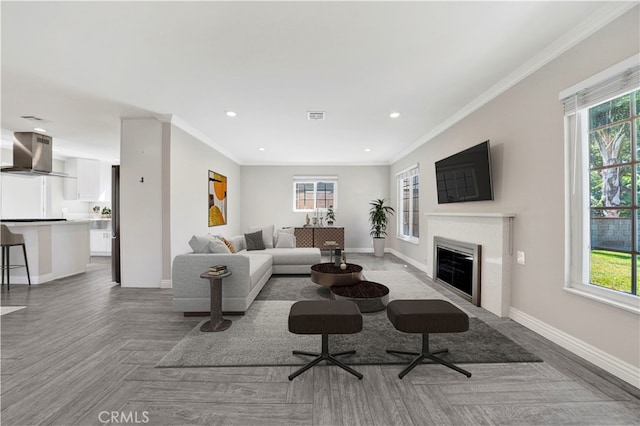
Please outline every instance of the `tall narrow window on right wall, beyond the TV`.
[[420, 237], [420, 173], [415, 165], [398, 173], [398, 238], [418, 243]]

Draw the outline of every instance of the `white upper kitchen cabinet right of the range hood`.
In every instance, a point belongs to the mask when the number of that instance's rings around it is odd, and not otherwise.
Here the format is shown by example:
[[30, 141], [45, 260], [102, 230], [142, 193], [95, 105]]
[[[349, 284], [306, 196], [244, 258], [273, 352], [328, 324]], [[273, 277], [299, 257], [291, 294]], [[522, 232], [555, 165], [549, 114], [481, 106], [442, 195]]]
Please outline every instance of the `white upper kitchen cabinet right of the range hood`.
[[99, 200], [100, 162], [98, 160], [69, 158], [65, 161], [64, 171], [71, 177], [64, 180], [66, 200]]

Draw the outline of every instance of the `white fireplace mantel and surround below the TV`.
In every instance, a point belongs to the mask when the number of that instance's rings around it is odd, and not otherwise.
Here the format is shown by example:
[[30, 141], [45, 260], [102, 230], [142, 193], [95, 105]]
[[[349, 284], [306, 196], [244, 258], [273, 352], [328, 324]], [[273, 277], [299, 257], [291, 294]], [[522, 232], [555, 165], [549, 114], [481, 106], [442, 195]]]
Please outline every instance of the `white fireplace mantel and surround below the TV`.
[[[509, 316], [515, 213], [430, 212], [425, 216], [427, 259], [433, 259], [436, 236], [481, 245], [480, 305], [498, 316]], [[433, 265], [429, 269], [433, 269]]]

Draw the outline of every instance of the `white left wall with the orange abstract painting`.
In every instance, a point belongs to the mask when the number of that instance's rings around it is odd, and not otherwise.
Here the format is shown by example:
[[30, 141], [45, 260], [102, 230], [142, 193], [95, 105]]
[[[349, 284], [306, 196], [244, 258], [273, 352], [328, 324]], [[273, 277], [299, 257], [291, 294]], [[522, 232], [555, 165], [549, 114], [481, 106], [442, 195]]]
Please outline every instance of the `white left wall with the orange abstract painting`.
[[[227, 177], [227, 224], [209, 227], [209, 170]], [[240, 166], [176, 126], [171, 128], [171, 257], [193, 235], [241, 233]]]

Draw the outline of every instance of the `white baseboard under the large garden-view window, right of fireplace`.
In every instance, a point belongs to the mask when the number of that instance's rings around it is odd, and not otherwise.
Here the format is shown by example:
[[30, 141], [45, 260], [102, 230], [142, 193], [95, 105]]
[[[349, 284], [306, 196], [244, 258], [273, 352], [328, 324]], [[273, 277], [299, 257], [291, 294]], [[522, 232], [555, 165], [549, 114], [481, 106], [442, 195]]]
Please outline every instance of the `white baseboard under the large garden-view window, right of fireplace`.
[[597, 365], [621, 380], [640, 389], [640, 368], [550, 326], [519, 309], [511, 308], [509, 317], [566, 350]]

